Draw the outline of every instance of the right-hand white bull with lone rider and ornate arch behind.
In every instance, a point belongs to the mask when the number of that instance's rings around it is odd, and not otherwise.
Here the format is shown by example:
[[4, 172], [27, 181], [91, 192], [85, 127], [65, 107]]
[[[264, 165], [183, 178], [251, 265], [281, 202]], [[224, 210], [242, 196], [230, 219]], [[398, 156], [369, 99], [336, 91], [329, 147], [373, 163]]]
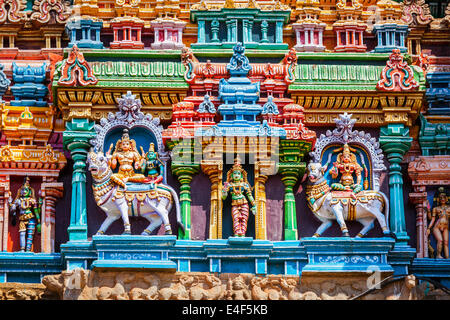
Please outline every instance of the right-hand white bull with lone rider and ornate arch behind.
[[[378, 142], [373, 141], [369, 134], [363, 131], [353, 131], [355, 119], [345, 113], [335, 119], [337, 128], [326, 135], [321, 135], [316, 143], [314, 152], [311, 152], [312, 160], [307, 166], [308, 184], [306, 188], [306, 199], [308, 207], [313, 214], [322, 222], [314, 233], [319, 237], [327, 230], [333, 220], [339, 223], [344, 236], [349, 232], [345, 221], [356, 220], [363, 225], [357, 237], [363, 237], [374, 227], [375, 219], [378, 220], [383, 234], [391, 236], [388, 226], [389, 201], [386, 195], [379, 189], [379, 170], [382, 164], [382, 153], [378, 150]], [[329, 173], [333, 178], [339, 178], [339, 182], [333, 183], [331, 187], [325, 178], [330, 164], [332, 153], [328, 161], [322, 165], [322, 153], [330, 145], [340, 144], [342, 147], [334, 149], [337, 160], [333, 163]], [[368, 150], [370, 163], [373, 164], [372, 183], [374, 190], [368, 190], [368, 170], [364, 158], [360, 154], [362, 166], [357, 162], [356, 150], [352, 145], [358, 145]], [[364, 183], [362, 180], [364, 178]]]

